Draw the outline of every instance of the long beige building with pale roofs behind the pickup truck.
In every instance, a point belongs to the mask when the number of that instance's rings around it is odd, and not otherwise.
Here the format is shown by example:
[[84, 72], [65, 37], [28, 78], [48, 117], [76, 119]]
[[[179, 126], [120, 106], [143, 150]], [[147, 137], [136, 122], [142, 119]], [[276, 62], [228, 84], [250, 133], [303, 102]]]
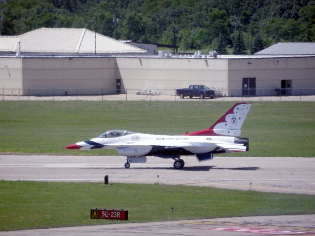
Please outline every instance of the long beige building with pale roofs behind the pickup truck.
[[88, 29], [0, 36], [0, 93], [135, 93], [203, 84], [225, 96], [315, 94], [315, 43], [279, 43], [255, 55], [148, 55]]

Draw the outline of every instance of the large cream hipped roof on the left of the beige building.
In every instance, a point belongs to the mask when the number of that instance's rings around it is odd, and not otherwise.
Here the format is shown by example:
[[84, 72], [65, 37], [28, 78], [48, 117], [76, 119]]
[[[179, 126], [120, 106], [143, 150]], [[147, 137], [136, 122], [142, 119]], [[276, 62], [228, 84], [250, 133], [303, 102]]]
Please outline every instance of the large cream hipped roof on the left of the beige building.
[[0, 36], [0, 52], [39, 55], [145, 54], [140, 48], [89, 29], [40, 28], [20, 36]]

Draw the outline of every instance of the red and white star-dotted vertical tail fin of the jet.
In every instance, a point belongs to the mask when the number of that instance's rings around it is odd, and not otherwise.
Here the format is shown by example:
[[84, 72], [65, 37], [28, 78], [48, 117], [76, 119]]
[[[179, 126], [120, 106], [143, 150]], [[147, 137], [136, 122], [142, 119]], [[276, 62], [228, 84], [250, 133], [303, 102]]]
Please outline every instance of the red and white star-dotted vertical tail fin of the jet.
[[249, 112], [252, 103], [236, 103], [227, 113], [219, 118], [209, 129], [204, 129], [185, 135], [204, 135], [204, 136], [240, 136], [241, 127]]

